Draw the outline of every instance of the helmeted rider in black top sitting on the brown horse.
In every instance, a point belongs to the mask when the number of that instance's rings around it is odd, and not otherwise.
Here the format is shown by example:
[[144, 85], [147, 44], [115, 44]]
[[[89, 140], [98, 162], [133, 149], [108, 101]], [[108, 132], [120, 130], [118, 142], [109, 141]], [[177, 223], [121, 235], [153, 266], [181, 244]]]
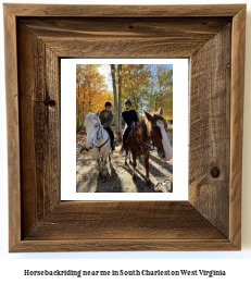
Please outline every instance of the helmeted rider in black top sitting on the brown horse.
[[130, 125], [135, 126], [139, 123], [137, 112], [135, 110], [131, 110], [130, 107], [131, 107], [131, 100], [126, 99], [125, 100], [126, 110], [124, 112], [122, 112], [122, 118], [123, 118], [124, 122], [127, 124], [127, 127], [125, 128], [124, 134], [123, 134], [124, 151], [123, 151], [122, 156], [126, 156], [126, 139], [130, 132]]

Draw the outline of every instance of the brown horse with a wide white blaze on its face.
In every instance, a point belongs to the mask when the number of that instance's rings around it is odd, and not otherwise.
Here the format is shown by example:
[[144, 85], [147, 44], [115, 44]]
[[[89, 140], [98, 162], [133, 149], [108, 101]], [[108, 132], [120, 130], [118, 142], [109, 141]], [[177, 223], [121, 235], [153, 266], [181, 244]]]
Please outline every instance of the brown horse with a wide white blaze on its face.
[[[151, 145], [149, 140], [152, 141], [153, 146], [158, 149], [158, 155], [162, 160], [171, 160], [173, 156], [173, 149], [170, 146], [170, 140], [167, 137], [167, 123], [162, 118], [162, 109], [158, 113], [151, 115], [150, 113], [143, 111], [145, 120], [140, 122], [135, 128], [131, 129], [131, 135], [127, 144], [127, 152], [133, 155], [133, 180], [135, 180], [135, 169], [137, 157], [145, 156], [145, 166], [147, 175], [147, 185], [151, 184], [149, 178], [149, 156], [151, 151]], [[123, 146], [120, 150], [122, 153]]]

